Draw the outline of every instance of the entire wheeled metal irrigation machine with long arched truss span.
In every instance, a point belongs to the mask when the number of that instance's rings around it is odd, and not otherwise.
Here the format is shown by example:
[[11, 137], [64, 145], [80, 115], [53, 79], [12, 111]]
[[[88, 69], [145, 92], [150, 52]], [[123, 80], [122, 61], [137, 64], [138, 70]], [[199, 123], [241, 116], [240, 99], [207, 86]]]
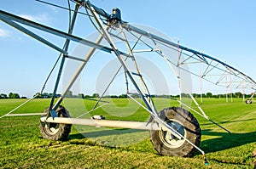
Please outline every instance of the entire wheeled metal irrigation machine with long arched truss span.
[[[31, 20], [26, 20], [14, 14], [9, 14], [2, 10], [0, 11], [0, 20], [61, 53], [61, 63], [55, 82], [53, 98], [51, 99], [49, 108], [44, 111], [44, 115], [40, 118], [40, 130], [44, 138], [54, 140], [67, 138], [72, 124], [143, 129], [150, 131], [150, 138], [154, 149], [156, 149], [160, 155], [191, 156], [197, 149], [201, 152], [206, 161], [204, 151], [199, 148], [201, 143], [201, 128], [195, 116], [192, 115], [189, 110], [201, 115], [218, 127], [221, 126], [209, 119], [206, 113], [201, 109], [200, 104], [198, 104], [193, 95], [189, 93], [189, 89], [186, 91], [186, 88], [189, 87], [186, 86], [181, 77], [182, 74], [189, 73], [189, 75], [197, 76], [200, 80], [204, 79], [207, 82], [222, 87], [251, 88], [253, 91], [255, 90], [256, 82], [241, 71], [236, 70], [218, 59], [183, 47], [179, 43], [172, 42], [172, 40], [166, 37], [161, 37], [152, 32], [145, 31], [143, 28], [129, 24], [121, 19], [119, 8], [113, 8], [113, 13], [108, 14], [102, 10], [102, 8], [97, 8], [89, 1], [73, 0], [72, 2], [75, 3], [75, 8], [73, 10], [68, 8], [71, 20], [67, 33], [46, 25], [38, 24]], [[52, 3], [47, 4], [54, 5]], [[79, 12], [80, 8], [84, 8], [86, 13]], [[73, 29], [78, 14], [89, 17], [91, 24], [96, 28], [98, 37], [95, 42], [73, 35]], [[26, 25], [26, 27], [24, 25]], [[44, 37], [40, 37], [37, 33], [30, 31], [28, 29], [29, 27], [65, 38], [66, 42], [64, 47], [59, 48]], [[90, 47], [84, 59], [68, 53], [70, 42], [77, 42]], [[148, 122], [71, 118], [68, 111], [61, 106], [62, 100], [73, 86], [73, 83], [78, 79], [84, 67], [86, 67], [89, 60], [97, 52], [113, 54], [119, 60], [121, 65], [119, 70], [124, 70], [127, 84], [128, 80], [133, 84], [144, 104], [139, 103], [137, 99], [132, 97], [131, 93], [129, 93], [128, 85], [126, 94], [129, 98], [142, 106], [143, 109], [148, 111], [151, 115]], [[156, 58], [165, 61], [166, 65], [170, 67], [170, 70], [177, 76], [177, 81], [180, 83], [180, 86], [185, 88], [185, 93], [188, 93], [189, 97], [191, 97], [198, 107], [198, 110], [192, 109], [188, 104], [185, 104], [182, 99], [176, 99], [181, 107], [171, 107], [160, 111], [156, 109], [154, 100], [148, 90], [148, 84], [144, 81], [143, 72], [140, 71], [137, 65], [138, 54], [143, 53], [146, 55], [154, 54]], [[74, 71], [73, 78], [69, 82], [69, 85], [67, 85], [67, 88], [61, 93], [61, 97], [55, 102], [56, 92], [67, 59], [79, 61], [81, 64], [79, 65], [79, 69]], [[128, 63], [132, 63], [132, 65]], [[150, 69], [150, 67], [148, 69]], [[115, 77], [116, 76], [113, 76], [113, 79]], [[101, 99], [102, 97], [98, 102], [100, 102]], [[93, 110], [96, 110], [96, 106]], [[221, 128], [230, 132], [224, 127]]]

